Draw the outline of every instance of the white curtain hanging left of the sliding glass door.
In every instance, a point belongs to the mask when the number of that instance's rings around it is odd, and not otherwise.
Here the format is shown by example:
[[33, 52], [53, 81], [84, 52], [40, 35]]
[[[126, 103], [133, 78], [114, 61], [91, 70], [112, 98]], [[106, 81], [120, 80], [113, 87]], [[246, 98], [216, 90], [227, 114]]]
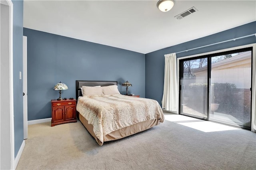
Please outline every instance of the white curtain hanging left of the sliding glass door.
[[164, 94], [162, 108], [178, 111], [177, 58], [176, 53], [166, 54], [164, 66]]

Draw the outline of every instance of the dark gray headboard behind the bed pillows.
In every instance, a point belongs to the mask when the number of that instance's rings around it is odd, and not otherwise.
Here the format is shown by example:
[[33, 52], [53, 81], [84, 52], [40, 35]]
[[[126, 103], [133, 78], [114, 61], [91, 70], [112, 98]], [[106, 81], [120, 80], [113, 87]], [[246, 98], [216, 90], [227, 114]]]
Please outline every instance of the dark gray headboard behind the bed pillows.
[[82, 86], [108, 86], [117, 85], [117, 81], [87, 81], [87, 80], [76, 80], [76, 100], [79, 96], [82, 96], [80, 87]]

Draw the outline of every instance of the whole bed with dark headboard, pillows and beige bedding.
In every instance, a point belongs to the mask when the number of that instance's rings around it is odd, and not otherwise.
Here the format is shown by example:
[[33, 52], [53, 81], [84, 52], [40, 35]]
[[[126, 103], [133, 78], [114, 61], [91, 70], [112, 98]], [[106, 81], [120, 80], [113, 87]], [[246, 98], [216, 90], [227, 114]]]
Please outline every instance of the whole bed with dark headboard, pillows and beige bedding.
[[100, 146], [164, 122], [157, 101], [121, 95], [117, 85], [117, 81], [76, 81], [77, 117]]

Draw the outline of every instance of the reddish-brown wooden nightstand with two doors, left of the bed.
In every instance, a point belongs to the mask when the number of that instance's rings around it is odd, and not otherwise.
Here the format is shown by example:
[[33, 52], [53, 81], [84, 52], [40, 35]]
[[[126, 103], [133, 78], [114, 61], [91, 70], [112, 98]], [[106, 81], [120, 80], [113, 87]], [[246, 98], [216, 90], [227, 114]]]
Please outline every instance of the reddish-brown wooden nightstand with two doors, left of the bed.
[[52, 124], [76, 122], [76, 99], [51, 100], [52, 102]]

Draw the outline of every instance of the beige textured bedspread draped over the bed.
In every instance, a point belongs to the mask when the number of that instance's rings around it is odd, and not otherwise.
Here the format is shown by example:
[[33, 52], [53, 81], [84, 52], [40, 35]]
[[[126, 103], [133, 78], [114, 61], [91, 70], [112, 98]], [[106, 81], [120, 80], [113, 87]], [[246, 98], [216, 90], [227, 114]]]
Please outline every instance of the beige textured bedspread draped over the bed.
[[115, 130], [152, 119], [164, 121], [156, 100], [126, 95], [79, 97], [76, 110], [93, 125], [93, 131], [102, 143], [103, 136]]

